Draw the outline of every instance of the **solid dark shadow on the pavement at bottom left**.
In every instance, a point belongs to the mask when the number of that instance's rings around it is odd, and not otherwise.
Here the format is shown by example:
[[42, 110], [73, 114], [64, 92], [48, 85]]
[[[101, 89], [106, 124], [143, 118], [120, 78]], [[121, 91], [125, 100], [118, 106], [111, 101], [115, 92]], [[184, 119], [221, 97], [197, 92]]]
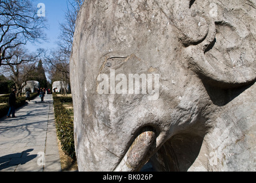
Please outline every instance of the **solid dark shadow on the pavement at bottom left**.
[[29, 155], [34, 149], [28, 149], [21, 153], [8, 154], [0, 157], [0, 170], [10, 168], [11, 166], [24, 165], [37, 157], [37, 154]]

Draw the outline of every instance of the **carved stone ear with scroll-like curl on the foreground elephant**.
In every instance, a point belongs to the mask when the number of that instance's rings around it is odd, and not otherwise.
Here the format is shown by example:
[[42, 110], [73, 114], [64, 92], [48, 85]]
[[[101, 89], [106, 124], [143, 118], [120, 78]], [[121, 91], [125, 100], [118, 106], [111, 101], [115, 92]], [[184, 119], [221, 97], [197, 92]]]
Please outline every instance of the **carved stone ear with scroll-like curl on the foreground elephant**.
[[184, 57], [205, 82], [230, 88], [255, 81], [255, 5], [195, 0], [157, 4], [179, 29]]

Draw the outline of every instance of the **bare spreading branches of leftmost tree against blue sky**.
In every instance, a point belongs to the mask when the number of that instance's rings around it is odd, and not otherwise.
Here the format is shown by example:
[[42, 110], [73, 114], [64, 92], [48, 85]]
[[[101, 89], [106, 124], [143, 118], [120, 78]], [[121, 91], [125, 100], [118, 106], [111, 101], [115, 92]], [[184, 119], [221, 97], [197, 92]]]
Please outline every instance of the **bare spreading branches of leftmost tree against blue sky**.
[[[0, 66], [17, 65], [11, 51], [19, 45], [38, 42], [45, 38], [44, 17], [37, 16], [37, 9], [30, 0], [0, 1]], [[9, 61], [9, 62], [7, 62]]]

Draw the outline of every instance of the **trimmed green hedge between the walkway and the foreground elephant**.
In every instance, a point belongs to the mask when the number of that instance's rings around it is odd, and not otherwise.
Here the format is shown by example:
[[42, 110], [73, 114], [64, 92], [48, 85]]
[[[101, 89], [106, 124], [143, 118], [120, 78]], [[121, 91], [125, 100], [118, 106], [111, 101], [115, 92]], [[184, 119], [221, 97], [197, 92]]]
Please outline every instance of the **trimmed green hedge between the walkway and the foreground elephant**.
[[61, 149], [65, 154], [75, 160], [76, 153], [73, 134], [73, 120], [62, 104], [62, 102], [70, 101], [72, 101], [72, 97], [57, 97], [56, 93], [53, 93], [56, 129], [57, 136], [60, 140]]

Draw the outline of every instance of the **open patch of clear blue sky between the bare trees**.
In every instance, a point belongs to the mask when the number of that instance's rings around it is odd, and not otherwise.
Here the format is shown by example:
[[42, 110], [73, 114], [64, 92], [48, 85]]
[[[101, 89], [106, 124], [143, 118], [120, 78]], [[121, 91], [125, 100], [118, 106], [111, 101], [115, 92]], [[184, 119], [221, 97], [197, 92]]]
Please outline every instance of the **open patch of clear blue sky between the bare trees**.
[[67, 10], [67, 0], [34, 0], [34, 6], [38, 3], [45, 5], [45, 18], [48, 30], [45, 30], [47, 42], [32, 45], [28, 43], [29, 51], [36, 51], [37, 48], [53, 49], [56, 47], [57, 38], [60, 35], [60, 23], [64, 22], [65, 10]]

